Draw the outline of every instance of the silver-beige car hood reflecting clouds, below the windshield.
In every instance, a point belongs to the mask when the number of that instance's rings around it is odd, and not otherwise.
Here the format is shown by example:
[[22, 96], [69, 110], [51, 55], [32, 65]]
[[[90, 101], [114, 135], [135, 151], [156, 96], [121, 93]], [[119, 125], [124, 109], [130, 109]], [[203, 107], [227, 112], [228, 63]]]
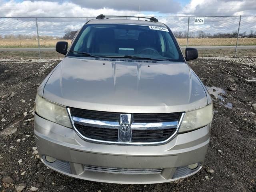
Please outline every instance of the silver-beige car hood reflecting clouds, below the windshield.
[[207, 105], [204, 86], [186, 63], [101, 58], [64, 58], [43, 97], [68, 107], [127, 113], [182, 112]]

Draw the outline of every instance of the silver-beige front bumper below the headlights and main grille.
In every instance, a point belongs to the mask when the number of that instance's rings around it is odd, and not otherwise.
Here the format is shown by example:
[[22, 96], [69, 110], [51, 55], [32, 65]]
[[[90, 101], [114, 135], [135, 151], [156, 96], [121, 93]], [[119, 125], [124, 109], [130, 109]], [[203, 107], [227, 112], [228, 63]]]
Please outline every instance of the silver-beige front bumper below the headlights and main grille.
[[[97, 182], [149, 184], [170, 182], [193, 175], [204, 162], [210, 141], [210, 124], [198, 130], [178, 134], [158, 146], [120, 146], [82, 140], [73, 129], [45, 120], [35, 114], [34, 136], [42, 162], [62, 174]], [[45, 155], [56, 158], [50, 163]], [[188, 169], [189, 164], [198, 168]], [[110, 173], [85, 167], [122, 170], [160, 169], [159, 173]]]

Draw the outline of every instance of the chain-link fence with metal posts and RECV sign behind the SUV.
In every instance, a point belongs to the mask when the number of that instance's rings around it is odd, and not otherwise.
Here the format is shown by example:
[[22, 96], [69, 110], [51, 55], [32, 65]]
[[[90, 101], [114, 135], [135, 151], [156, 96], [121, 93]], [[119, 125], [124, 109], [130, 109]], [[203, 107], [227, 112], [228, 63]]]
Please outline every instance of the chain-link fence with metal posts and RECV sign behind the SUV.
[[[70, 44], [84, 23], [94, 18], [0, 17], [0, 58], [62, 57], [55, 51], [56, 42]], [[172, 30], [183, 50], [198, 48], [199, 56], [256, 56], [256, 16], [200, 17], [203, 24], [194, 16], [157, 18]]]

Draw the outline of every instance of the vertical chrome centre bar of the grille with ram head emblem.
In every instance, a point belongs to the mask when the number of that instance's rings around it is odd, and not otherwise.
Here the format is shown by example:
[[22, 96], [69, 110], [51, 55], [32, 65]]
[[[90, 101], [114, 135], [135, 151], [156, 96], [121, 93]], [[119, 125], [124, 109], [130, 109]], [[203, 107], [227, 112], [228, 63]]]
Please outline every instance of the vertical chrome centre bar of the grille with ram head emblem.
[[119, 138], [120, 142], [130, 142], [131, 141], [131, 114], [119, 114]]

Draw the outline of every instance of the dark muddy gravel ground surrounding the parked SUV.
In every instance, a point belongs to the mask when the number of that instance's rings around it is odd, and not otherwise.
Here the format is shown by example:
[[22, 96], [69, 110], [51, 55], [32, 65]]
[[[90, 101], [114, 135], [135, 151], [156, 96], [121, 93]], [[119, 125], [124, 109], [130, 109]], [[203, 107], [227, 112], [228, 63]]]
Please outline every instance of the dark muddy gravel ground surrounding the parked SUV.
[[0, 60], [1, 192], [256, 192], [255, 57], [209, 57], [190, 62], [214, 99], [215, 114], [206, 161], [194, 176], [150, 185], [78, 180], [58, 174], [40, 162], [34, 148], [34, 99], [38, 85], [59, 61]]

